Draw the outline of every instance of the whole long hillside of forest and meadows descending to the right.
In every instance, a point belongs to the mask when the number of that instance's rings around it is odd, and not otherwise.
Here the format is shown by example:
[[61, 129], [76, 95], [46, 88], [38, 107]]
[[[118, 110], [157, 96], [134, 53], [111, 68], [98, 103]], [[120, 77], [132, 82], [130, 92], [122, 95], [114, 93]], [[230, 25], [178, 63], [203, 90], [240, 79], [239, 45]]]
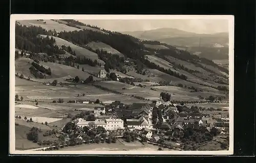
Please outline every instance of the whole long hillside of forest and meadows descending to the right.
[[[89, 27], [73, 20], [61, 20], [57, 24], [66, 25], [63, 21], [69, 24], [68, 27]], [[121, 78], [130, 78], [132, 83], [156, 82], [156, 85], [161, 84], [161, 86], [183, 87], [182, 94], [184, 95], [185, 91], [191, 92], [195, 94], [194, 100], [199, 95], [204, 97], [225, 95], [224, 91], [228, 88], [228, 70], [211, 60], [158, 41], [145, 41], [118, 32], [105, 32], [106, 30], [93, 26], [89, 28], [95, 30], [61, 31], [56, 35], [54, 31], [47, 31], [43, 28], [17, 26], [16, 47], [17, 49], [25, 47], [24, 50], [30, 55], [26, 58], [15, 52], [16, 72], [30, 76], [31, 65], [28, 61], [34, 60], [43, 67], [42, 71], [51, 69], [51, 73], [45, 72], [44, 78], [32, 77], [33, 80], [52, 82], [57, 79], [62, 82], [65, 78], [75, 76], [86, 79], [98, 73], [100, 65], [104, 65], [107, 72], [115, 73]], [[23, 46], [24, 44], [26, 46]], [[94, 80], [100, 79], [94, 77]], [[127, 83], [131, 87], [132, 83]], [[100, 89], [105, 89], [105, 86], [106, 90], [114, 93], [116, 97], [120, 94], [129, 99], [137, 96], [137, 100], [138, 98], [156, 99], [159, 97], [159, 92], [151, 90], [148, 84], [145, 89], [129, 87], [129, 91], [122, 87], [117, 90], [116, 82], [109, 83], [109, 85], [105, 82], [98, 84]], [[167, 90], [166, 87], [166, 91], [171, 90]], [[183, 95], [180, 94], [180, 98], [187, 99]], [[176, 98], [178, 100], [179, 96]]]

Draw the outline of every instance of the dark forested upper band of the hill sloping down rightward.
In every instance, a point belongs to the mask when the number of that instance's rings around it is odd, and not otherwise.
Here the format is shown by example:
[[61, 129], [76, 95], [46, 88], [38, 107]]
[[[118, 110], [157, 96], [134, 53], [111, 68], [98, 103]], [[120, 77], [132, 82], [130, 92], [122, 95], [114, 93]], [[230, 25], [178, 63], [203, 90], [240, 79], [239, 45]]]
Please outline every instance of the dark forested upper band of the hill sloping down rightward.
[[[89, 50], [90, 53], [92, 52], [92, 54], [97, 55], [100, 60], [104, 61], [105, 69], [108, 72], [109, 69], [116, 69], [117, 71], [126, 73], [127, 65], [124, 61], [127, 59], [132, 59], [137, 71], [136, 73], [139, 74], [143, 73], [143, 69], [145, 68], [152, 68], [171, 76], [175, 76], [181, 80], [190, 81], [190, 79], [201, 78], [200, 80], [217, 82], [216, 79], [213, 79], [213, 76], [219, 76], [219, 78], [227, 79], [226, 75], [219, 73], [223, 72], [228, 74], [227, 69], [220, 67], [211, 60], [192, 55], [187, 51], [178, 50], [174, 46], [163, 44], [158, 41], [142, 41], [130, 35], [111, 32], [95, 26], [90, 26], [90, 28], [94, 28], [96, 30], [90, 30], [83, 28], [89, 27], [88, 25], [82, 24], [81, 22], [75, 20], [62, 21], [66, 21], [69, 26], [78, 27], [78, 30], [56, 32], [55, 30], [45, 30], [41, 27], [26, 27], [16, 24], [16, 49], [31, 52], [32, 55], [30, 55], [30, 57], [36, 60], [44, 59], [44, 61], [51, 60], [53, 62], [62, 60], [65, 61], [65, 64], [67, 65], [72, 65], [72, 62], [89, 64], [91, 66], [101, 65], [101, 63], [96, 59], [94, 60], [92, 58], [87, 58], [88, 56], [86, 54], [82, 54], [81, 52], [82, 49], [84, 49], [84, 51]], [[50, 25], [48, 28], [51, 28]], [[48, 37], [44, 38], [40, 37], [40, 35], [48, 35]], [[74, 44], [72, 47], [80, 47], [80, 49], [78, 51], [65, 44], [56, 45], [56, 41], [58, 40], [52, 38], [51, 36], [55, 36], [58, 39], [67, 40], [71, 44]], [[108, 44], [113, 49], [123, 54], [124, 57], [111, 55], [102, 50], [92, 50], [89, 46], [87, 46], [87, 44], [90, 42], [103, 42]], [[78, 52], [83, 56], [79, 56], [78, 59], [75, 59], [76, 56], [78, 56]], [[37, 56], [38, 53], [45, 53], [47, 55], [42, 58], [41, 56]], [[61, 54], [67, 53], [71, 54], [73, 57], [60, 57]], [[147, 56], [154, 56], [156, 60], [149, 60], [147, 59]], [[18, 57], [19, 56], [16, 56], [16, 58]], [[176, 61], [172, 62], [173, 58], [175, 58]], [[168, 62], [168, 64], [164, 66], [159, 62], [161, 59], [164, 59], [166, 62]], [[210, 76], [204, 74], [203, 71], [193, 71], [193, 68], [186, 67], [185, 62], [196, 67], [200, 67]], [[191, 80], [191, 82], [196, 81]]]

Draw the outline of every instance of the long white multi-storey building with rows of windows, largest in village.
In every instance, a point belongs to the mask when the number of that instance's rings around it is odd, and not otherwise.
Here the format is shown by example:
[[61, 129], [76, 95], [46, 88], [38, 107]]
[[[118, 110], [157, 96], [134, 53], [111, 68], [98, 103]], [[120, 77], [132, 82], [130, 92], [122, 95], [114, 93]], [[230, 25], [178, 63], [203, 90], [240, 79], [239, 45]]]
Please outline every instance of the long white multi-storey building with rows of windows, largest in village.
[[78, 127], [89, 126], [90, 124], [94, 124], [96, 127], [101, 126], [105, 130], [118, 130], [124, 129], [123, 120], [121, 119], [105, 119], [105, 120], [95, 120], [95, 121], [86, 121], [83, 119], [78, 119], [75, 121], [75, 124]]

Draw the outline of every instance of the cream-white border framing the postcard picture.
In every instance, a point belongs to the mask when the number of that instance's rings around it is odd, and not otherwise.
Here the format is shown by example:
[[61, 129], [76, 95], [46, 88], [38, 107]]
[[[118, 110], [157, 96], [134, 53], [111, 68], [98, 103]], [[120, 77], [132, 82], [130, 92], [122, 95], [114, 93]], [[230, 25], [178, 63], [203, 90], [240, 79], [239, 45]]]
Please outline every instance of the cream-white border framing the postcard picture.
[[[225, 19], [229, 27], [229, 150], [227, 151], [18, 151], [15, 150], [15, 20], [28, 19]], [[90, 154], [90, 155], [230, 155], [233, 154], [233, 81], [234, 16], [233, 15], [51, 15], [12, 14], [10, 17], [10, 154]]]

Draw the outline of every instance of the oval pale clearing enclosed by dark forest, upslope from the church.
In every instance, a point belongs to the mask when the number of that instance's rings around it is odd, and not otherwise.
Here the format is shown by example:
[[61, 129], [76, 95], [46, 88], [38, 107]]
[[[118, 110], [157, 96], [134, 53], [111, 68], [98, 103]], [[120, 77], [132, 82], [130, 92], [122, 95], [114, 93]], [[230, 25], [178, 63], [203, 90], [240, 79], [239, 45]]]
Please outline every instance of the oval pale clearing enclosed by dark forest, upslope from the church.
[[89, 46], [93, 50], [98, 49], [98, 50], [106, 51], [106, 52], [111, 53], [111, 54], [117, 54], [117, 55], [119, 55], [119, 57], [124, 56], [123, 54], [121, 54], [120, 52], [118, 52], [117, 50], [112, 48], [110, 45], [105, 44], [103, 42], [90, 42], [90, 43], [87, 44], [87, 46]]

